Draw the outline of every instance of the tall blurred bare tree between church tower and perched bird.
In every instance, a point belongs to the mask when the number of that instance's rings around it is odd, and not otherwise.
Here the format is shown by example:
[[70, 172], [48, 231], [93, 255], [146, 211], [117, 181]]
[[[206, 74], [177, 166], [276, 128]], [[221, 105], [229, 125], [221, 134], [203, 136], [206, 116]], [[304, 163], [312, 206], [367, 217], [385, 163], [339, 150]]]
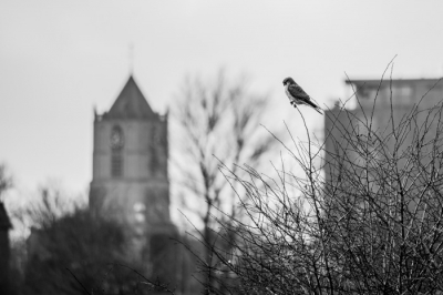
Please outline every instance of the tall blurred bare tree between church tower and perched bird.
[[[181, 187], [187, 190], [187, 200], [194, 197], [198, 204], [204, 243], [215, 243], [214, 208], [223, 208], [229, 217], [238, 215], [235, 194], [219, 173], [219, 163], [233, 171], [237, 170], [234, 163], [256, 166], [274, 142], [258, 132], [268, 98], [248, 92], [246, 84], [246, 79], [228, 82], [224, 71], [214, 82], [187, 79], [175, 105], [177, 130], [183, 134], [176, 160]], [[225, 215], [218, 217], [229, 221]], [[215, 263], [212, 251], [207, 250], [204, 256], [200, 262], [210, 268]], [[213, 276], [206, 278], [208, 289]]]

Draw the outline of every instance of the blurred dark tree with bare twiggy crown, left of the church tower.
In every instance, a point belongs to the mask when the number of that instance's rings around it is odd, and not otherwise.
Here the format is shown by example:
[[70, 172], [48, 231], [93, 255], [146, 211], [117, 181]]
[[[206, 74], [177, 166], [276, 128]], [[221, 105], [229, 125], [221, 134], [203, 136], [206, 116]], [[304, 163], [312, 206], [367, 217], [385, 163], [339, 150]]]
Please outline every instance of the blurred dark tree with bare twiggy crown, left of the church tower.
[[[23, 278], [14, 277], [17, 294], [145, 294], [141, 265], [124, 266], [125, 227], [89, 212], [55, 185], [40, 190], [39, 199], [16, 215], [31, 234]], [[20, 245], [18, 245], [20, 246]]]

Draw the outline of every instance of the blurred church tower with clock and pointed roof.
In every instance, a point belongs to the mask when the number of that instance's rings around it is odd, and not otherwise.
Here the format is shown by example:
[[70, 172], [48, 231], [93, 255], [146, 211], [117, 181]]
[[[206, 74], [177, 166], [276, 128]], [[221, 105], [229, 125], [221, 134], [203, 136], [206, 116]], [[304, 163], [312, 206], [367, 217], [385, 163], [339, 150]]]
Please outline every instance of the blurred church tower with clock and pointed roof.
[[174, 231], [167, 114], [155, 113], [130, 77], [110, 111], [94, 116], [90, 208], [127, 225], [131, 236]]

